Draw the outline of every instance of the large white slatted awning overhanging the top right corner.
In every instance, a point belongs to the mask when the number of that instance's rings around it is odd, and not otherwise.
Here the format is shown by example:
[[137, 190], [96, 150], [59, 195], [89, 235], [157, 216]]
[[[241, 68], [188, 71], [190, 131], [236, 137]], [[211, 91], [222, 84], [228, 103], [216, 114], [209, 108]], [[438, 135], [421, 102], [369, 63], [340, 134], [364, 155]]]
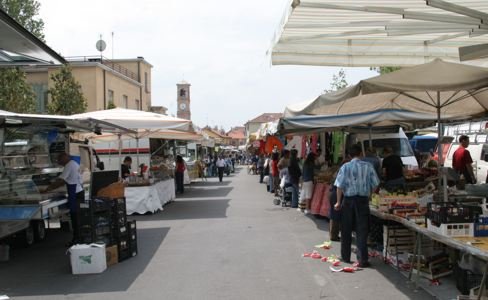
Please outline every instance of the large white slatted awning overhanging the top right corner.
[[412, 66], [488, 57], [486, 0], [290, 2], [273, 41], [273, 65]]

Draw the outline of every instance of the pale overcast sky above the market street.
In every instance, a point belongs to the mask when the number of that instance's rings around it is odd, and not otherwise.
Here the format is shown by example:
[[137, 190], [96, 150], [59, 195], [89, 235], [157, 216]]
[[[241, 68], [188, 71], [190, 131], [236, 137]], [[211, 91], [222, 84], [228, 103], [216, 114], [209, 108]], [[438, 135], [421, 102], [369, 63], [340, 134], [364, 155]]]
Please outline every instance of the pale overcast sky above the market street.
[[[290, 0], [38, 0], [47, 44], [65, 57], [142, 56], [153, 65], [152, 105], [176, 115], [176, 83], [191, 84], [192, 121], [230, 129], [314, 99], [336, 67], [272, 66], [272, 39]], [[114, 38], [112, 40], [112, 32]], [[344, 68], [354, 84], [374, 75]]]

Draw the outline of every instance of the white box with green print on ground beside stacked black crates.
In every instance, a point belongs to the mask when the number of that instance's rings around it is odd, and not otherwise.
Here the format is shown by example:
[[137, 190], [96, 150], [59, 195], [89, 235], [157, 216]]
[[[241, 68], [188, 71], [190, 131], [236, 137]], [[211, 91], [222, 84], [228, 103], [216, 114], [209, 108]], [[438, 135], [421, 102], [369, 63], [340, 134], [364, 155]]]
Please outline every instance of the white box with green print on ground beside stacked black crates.
[[107, 269], [105, 244], [82, 244], [69, 248], [73, 274], [97, 274]]

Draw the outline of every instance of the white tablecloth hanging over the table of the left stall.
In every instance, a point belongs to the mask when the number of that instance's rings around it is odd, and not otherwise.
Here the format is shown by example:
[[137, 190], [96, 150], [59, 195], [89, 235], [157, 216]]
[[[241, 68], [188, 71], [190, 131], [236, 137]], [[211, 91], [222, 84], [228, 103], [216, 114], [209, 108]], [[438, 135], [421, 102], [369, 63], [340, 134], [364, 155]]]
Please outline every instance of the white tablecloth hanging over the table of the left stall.
[[160, 181], [151, 186], [126, 187], [127, 214], [144, 214], [163, 210], [163, 205], [175, 199], [173, 179]]

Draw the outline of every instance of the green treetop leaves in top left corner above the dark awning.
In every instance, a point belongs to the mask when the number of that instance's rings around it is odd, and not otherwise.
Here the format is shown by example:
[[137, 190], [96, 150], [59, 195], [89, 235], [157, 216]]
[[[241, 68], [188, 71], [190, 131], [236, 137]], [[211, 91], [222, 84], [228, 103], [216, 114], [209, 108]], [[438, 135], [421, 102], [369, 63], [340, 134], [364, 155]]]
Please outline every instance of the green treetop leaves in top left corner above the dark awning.
[[37, 18], [41, 5], [36, 0], [0, 0], [0, 8], [44, 42], [44, 21]]

